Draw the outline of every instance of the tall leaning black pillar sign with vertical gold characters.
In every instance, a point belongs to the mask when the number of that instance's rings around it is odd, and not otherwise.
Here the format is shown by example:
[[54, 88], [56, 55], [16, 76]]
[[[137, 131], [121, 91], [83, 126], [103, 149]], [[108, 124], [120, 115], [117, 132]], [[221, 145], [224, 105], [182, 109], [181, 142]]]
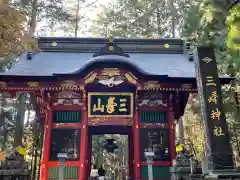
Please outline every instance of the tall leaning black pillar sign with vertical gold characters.
[[198, 47], [196, 74], [205, 132], [207, 154], [214, 170], [233, 169], [232, 148], [222, 107], [221, 84], [214, 50]]

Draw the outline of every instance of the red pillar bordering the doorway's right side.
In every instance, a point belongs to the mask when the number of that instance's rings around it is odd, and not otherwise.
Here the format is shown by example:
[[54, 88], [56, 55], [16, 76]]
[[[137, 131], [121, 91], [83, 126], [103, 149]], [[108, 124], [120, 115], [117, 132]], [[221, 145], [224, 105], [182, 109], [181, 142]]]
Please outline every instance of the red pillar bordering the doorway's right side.
[[140, 166], [140, 123], [139, 123], [139, 112], [136, 108], [134, 123], [133, 123], [133, 137], [134, 137], [134, 179], [140, 180], [141, 178], [141, 166]]

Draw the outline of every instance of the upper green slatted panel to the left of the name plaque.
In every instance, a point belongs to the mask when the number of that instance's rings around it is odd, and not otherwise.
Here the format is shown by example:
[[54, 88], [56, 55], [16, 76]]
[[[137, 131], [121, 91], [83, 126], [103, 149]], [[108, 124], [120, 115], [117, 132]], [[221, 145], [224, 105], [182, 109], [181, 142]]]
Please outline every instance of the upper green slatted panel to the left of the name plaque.
[[53, 123], [79, 123], [82, 118], [81, 111], [54, 111]]

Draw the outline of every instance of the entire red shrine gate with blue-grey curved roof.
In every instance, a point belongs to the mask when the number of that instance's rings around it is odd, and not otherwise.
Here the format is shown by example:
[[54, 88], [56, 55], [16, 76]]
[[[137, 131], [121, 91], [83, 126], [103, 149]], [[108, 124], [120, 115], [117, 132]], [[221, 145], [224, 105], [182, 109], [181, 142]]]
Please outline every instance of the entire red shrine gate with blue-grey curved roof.
[[44, 124], [41, 180], [58, 179], [57, 154], [62, 152], [69, 153], [65, 178], [87, 180], [92, 136], [98, 134], [128, 136], [129, 179], [148, 179], [148, 151], [155, 154], [154, 180], [170, 178], [175, 122], [189, 94], [198, 92], [189, 43], [41, 37], [38, 48], [1, 73], [0, 88], [11, 96], [32, 92], [36, 97]]

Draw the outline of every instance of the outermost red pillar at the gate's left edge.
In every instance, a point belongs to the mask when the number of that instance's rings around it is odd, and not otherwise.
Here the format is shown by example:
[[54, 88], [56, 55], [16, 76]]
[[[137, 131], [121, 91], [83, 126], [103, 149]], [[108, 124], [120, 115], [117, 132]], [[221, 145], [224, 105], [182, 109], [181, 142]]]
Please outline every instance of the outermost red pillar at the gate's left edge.
[[51, 146], [51, 126], [52, 126], [52, 110], [47, 109], [46, 120], [44, 124], [44, 144], [43, 144], [43, 153], [41, 161], [41, 171], [40, 177], [41, 180], [48, 179], [48, 159], [50, 156], [50, 146]]

